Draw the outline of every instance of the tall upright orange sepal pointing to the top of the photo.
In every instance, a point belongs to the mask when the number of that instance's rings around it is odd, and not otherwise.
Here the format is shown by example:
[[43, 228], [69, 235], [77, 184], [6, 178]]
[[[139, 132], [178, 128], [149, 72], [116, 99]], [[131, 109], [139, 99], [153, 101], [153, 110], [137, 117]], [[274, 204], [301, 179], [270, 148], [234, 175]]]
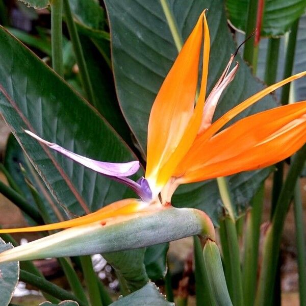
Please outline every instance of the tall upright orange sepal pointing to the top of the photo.
[[[201, 90], [194, 109], [198, 64], [204, 28]], [[152, 107], [148, 124], [146, 178], [160, 186], [191, 146], [201, 122], [205, 101], [209, 31], [202, 13], [169, 71]]]

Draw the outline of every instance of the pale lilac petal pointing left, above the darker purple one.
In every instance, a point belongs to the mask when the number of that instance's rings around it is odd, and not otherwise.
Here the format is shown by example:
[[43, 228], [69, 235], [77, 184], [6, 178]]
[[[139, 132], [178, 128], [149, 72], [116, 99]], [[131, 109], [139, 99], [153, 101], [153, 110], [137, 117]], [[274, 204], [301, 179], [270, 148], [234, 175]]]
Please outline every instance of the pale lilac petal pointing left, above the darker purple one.
[[[67, 156], [68, 158], [72, 159], [75, 162], [78, 162], [85, 167], [92, 169], [98, 173], [112, 176], [112, 177], [124, 177], [124, 176], [130, 176], [136, 173], [139, 169], [139, 162], [133, 161], [128, 163], [108, 163], [108, 162], [100, 162], [96, 160], [92, 160], [90, 158], [75, 154], [73, 152], [70, 152], [63, 147], [57, 145], [56, 143], [48, 142], [34, 133], [24, 130], [25, 133], [29, 134], [33, 138], [37, 139], [38, 141], [44, 143], [48, 147], [58, 151], [64, 156]], [[133, 182], [133, 181], [132, 181]]]

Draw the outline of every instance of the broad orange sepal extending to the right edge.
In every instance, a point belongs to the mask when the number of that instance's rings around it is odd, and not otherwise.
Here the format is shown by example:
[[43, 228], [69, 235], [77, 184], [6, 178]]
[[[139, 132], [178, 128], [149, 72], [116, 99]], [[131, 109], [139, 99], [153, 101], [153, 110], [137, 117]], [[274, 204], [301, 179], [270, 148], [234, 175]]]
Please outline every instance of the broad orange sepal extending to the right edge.
[[272, 165], [305, 143], [306, 101], [278, 107], [234, 123], [210, 140], [194, 146], [176, 175], [184, 183], [231, 175]]

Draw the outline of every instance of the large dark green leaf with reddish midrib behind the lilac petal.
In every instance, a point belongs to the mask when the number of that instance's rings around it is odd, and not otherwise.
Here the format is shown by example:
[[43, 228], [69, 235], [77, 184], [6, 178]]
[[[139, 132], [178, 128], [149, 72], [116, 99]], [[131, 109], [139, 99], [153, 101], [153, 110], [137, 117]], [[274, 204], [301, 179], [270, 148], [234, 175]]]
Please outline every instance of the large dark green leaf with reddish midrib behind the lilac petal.
[[[30, 129], [48, 141], [97, 160], [136, 159], [81, 96], [3, 28], [0, 110], [50, 192], [70, 212], [83, 214], [80, 203], [95, 211], [132, 195], [124, 186], [50, 152], [23, 132]], [[142, 251], [139, 256], [142, 258]]]

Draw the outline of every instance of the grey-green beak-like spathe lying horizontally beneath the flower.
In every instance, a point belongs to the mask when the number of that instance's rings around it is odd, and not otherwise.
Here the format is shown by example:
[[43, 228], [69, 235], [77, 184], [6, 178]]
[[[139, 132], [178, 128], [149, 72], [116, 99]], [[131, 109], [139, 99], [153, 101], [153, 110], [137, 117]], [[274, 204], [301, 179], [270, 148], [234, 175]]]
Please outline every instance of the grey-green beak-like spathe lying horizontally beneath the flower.
[[0, 262], [82, 256], [140, 248], [193, 235], [215, 239], [209, 217], [196, 209], [165, 208], [129, 220], [68, 228], [0, 254]]

